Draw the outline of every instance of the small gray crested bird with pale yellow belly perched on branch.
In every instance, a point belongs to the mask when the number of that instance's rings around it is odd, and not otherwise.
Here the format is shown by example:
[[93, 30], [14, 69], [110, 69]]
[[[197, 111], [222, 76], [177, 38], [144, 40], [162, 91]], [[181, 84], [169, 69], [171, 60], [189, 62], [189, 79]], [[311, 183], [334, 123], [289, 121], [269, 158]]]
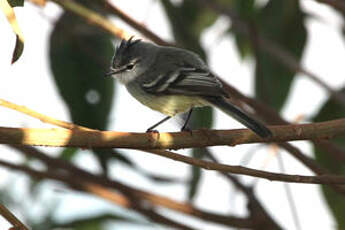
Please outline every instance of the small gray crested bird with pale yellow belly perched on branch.
[[168, 115], [147, 131], [153, 131], [169, 118], [189, 110], [183, 131], [194, 107], [215, 106], [259, 136], [272, 136], [263, 124], [227, 101], [229, 96], [221, 82], [191, 51], [158, 46], [131, 37], [128, 41], [122, 40], [116, 49], [107, 75], [119, 79], [142, 104]]

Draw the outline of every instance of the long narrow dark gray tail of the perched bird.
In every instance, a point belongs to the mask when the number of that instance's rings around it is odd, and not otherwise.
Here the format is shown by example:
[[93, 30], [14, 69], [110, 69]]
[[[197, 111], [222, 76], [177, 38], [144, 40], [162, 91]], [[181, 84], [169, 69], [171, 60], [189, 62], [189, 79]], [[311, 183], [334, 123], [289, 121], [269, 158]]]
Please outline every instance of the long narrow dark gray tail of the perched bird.
[[251, 129], [253, 132], [258, 134], [259, 136], [266, 138], [271, 137], [272, 132], [264, 126], [261, 122], [251, 118], [244, 112], [242, 112], [236, 106], [230, 104], [222, 97], [207, 97], [205, 98], [209, 103], [216, 106], [224, 113], [228, 114], [229, 116], [235, 118], [237, 121], [241, 122], [244, 126]]

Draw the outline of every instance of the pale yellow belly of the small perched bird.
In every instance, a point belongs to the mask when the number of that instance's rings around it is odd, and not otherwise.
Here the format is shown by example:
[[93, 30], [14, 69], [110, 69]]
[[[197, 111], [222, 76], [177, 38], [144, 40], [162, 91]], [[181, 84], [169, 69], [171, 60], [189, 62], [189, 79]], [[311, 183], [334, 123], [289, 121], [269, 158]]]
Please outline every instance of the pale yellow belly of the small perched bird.
[[141, 89], [134, 90], [134, 88], [130, 87], [127, 87], [127, 89], [131, 95], [142, 104], [168, 116], [174, 116], [178, 113], [186, 112], [192, 107], [207, 105], [204, 100], [198, 97], [180, 95], [156, 96], [153, 94], [144, 93], [140, 91]]

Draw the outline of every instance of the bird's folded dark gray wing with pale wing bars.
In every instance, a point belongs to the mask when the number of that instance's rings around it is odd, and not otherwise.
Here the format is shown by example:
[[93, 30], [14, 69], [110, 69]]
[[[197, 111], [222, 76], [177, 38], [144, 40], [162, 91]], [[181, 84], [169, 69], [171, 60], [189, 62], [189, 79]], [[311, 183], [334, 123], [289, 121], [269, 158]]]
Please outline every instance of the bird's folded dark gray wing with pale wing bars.
[[228, 97], [220, 81], [204, 69], [180, 67], [147, 79], [141, 84], [147, 93]]

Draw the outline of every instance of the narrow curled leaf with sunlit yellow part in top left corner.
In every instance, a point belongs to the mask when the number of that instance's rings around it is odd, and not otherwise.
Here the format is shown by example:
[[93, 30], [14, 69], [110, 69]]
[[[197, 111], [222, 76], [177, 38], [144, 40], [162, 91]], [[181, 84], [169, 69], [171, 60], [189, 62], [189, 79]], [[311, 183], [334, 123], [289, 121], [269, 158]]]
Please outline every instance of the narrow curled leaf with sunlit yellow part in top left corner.
[[11, 5], [8, 4], [6, 0], [0, 0], [0, 8], [6, 15], [6, 18], [8, 22], [11, 24], [11, 27], [16, 34], [16, 45], [14, 47], [13, 55], [12, 55], [12, 61], [13, 64], [16, 62], [19, 57], [22, 55], [24, 50], [24, 36], [22, 31], [20, 30], [20, 27], [18, 25], [16, 15], [14, 13], [14, 10], [12, 7], [14, 6], [23, 6], [23, 1], [10, 1]]

